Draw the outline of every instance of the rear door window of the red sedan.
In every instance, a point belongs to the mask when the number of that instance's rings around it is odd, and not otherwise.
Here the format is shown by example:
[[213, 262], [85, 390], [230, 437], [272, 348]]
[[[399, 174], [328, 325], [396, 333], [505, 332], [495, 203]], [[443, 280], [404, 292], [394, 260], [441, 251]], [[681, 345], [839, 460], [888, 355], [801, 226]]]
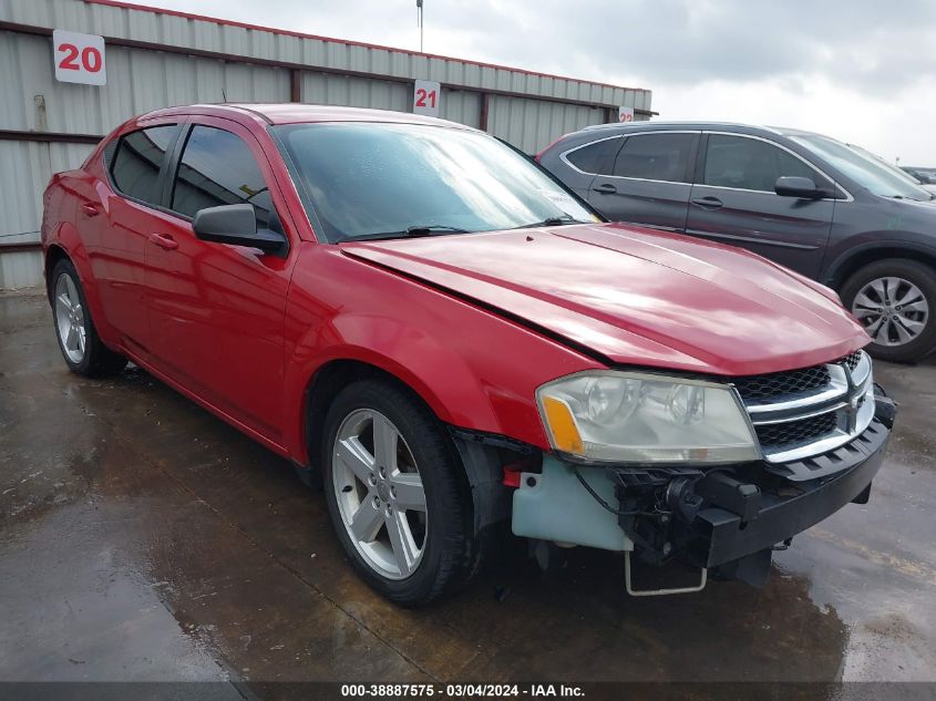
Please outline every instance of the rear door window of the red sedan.
[[121, 136], [111, 158], [111, 178], [119, 192], [134, 199], [160, 204], [156, 188], [160, 168], [176, 128], [175, 124], [166, 124]]

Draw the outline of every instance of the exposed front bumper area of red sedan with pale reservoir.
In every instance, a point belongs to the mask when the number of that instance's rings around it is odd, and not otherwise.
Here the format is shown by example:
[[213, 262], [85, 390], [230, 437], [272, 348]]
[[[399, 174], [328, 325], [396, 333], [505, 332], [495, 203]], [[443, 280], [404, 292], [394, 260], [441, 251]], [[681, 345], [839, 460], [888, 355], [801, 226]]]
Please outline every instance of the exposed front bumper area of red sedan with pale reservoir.
[[[875, 391], [875, 416], [851, 443], [796, 464], [584, 466], [544, 458], [513, 496], [520, 536], [677, 560], [761, 586], [771, 553], [851, 502], [866, 503], [896, 406]], [[803, 478], [812, 471], [814, 478]], [[808, 476], [808, 475], [806, 475]]]

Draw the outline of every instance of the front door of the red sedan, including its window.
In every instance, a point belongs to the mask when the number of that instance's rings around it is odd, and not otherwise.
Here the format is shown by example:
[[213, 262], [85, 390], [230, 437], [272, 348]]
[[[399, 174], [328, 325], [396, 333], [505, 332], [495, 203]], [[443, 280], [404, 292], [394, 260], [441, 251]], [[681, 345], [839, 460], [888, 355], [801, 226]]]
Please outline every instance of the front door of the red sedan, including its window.
[[247, 203], [257, 228], [286, 233], [269, 162], [250, 132], [224, 118], [192, 117], [171, 165], [172, 229], [146, 248], [153, 353], [166, 374], [279, 444], [284, 323], [297, 251], [285, 257], [204, 241], [192, 230], [206, 207]]

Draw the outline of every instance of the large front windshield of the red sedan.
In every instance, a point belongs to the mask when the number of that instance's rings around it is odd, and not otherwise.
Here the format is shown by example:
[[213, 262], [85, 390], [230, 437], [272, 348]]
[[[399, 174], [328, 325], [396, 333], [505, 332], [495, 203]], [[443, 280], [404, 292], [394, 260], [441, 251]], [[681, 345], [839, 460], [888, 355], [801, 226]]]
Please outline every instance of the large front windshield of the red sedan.
[[274, 128], [331, 243], [597, 221], [560, 185], [495, 138], [421, 124]]

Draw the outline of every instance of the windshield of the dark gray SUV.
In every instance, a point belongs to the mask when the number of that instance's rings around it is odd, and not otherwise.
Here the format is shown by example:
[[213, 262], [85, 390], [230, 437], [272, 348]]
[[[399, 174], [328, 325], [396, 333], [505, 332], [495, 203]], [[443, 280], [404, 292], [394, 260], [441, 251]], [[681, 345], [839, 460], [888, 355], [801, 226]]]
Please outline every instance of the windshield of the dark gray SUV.
[[908, 181], [885, 162], [878, 161], [864, 150], [856, 150], [845, 144], [817, 134], [791, 136], [801, 146], [805, 146], [820, 158], [827, 161], [858, 185], [881, 197], [929, 200], [929, 193]]

